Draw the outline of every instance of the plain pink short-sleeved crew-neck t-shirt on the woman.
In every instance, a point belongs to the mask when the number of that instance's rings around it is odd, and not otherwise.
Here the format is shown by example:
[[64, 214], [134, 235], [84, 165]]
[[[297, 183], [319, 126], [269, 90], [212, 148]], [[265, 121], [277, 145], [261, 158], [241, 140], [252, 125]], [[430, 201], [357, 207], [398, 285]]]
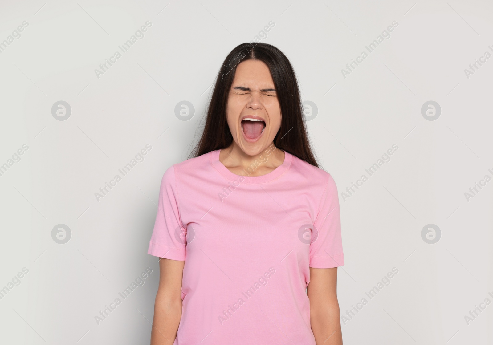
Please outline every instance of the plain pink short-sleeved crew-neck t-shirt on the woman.
[[310, 267], [344, 265], [339, 198], [284, 152], [261, 176], [230, 172], [219, 150], [164, 173], [148, 253], [185, 260], [174, 345], [315, 345], [306, 287]]

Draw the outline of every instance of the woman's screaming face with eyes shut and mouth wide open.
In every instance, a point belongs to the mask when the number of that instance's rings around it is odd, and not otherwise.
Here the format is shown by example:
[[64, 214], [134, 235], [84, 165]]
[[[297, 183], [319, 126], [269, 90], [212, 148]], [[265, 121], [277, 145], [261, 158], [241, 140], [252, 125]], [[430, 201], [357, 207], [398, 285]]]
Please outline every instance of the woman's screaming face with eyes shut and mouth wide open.
[[281, 128], [281, 108], [269, 67], [262, 61], [246, 60], [237, 66], [227, 121], [233, 140], [250, 156], [273, 142]]

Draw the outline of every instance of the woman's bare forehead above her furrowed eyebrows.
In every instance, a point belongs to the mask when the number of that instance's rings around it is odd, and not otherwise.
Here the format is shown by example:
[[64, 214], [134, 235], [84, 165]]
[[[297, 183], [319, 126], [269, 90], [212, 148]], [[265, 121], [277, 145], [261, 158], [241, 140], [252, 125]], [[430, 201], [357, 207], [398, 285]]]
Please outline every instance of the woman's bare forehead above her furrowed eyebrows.
[[236, 67], [232, 87], [235, 86], [274, 87], [274, 81], [272, 80], [269, 67], [264, 62], [246, 60]]

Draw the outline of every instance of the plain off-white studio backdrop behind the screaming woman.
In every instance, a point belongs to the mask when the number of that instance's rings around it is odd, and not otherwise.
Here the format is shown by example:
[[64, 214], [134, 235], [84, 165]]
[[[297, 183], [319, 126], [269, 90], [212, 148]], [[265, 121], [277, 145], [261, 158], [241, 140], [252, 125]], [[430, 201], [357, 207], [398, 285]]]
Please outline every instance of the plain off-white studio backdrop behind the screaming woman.
[[0, 18], [1, 344], [149, 343], [161, 177], [250, 41], [290, 59], [338, 187], [344, 344], [493, 344], [491, 2], [2, 1]]

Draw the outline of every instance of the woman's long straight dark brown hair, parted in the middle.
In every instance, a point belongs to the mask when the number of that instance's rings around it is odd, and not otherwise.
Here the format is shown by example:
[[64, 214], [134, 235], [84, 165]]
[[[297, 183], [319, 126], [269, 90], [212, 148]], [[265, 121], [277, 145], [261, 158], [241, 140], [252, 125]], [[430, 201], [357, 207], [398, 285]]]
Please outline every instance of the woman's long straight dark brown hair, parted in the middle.
[[233, 142], [226, 121], [229, 92], [236, 67], [246, 60], [259, 60], [270, 69], [281, 107], [281, 128], [274, 138], [276, 147], [319, 168], [306, 132], [303, 106], [294, 70], [281, 50], [268, 43], [242, 43], [224, 59], [216, 78], [202, 136], [190, 154], [198, 157]]

